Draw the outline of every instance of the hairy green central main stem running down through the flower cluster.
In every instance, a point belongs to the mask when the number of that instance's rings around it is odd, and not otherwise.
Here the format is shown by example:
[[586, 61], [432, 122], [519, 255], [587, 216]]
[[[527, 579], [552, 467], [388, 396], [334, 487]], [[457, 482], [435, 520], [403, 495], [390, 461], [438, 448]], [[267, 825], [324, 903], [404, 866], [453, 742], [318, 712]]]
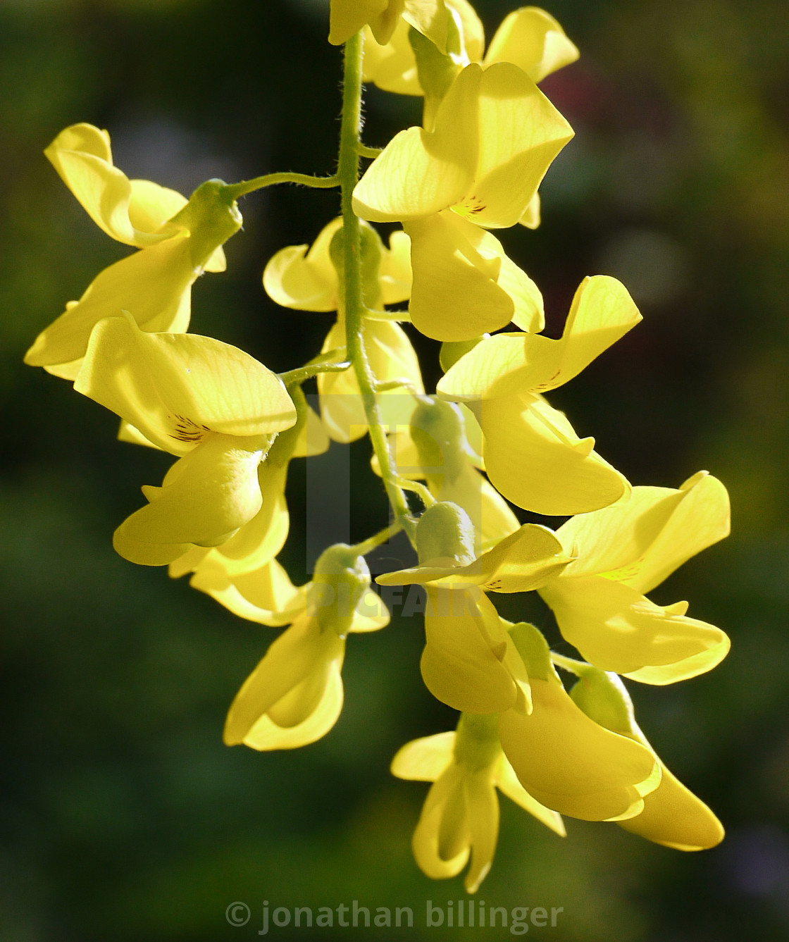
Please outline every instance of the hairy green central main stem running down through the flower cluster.
[[411, 543], [415, 540], [416, 521], [411, 517], [408, 499], [397, 483], [392, 453], [381, 423], [376, 377], [367, 360], [362, 339], [362, 235], [358, 217], [353, 211], [353, 190], [359, 183], [359, 134], [362, 128], [362, 33], [346, 42], [343, 75], [343, 120], [340, 127], [340, 154], [337, 176], [340, 180], [343, 207], [343, 243], [345, 274], [346, 356], [353, 365], [364, 415], [370, 430], [370, 441], [378, 456], [381, 478], [394, 512], [394, 521], [403, 528]]

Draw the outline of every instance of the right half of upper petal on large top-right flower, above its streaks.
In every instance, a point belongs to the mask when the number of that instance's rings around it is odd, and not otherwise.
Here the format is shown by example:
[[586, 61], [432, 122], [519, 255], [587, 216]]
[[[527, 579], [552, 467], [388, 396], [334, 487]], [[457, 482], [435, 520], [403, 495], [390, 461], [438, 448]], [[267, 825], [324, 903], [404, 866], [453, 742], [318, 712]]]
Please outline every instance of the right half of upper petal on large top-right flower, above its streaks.
[[[469, 68], [475, 68], [470, 66]], [[472, 189], [456, 212], [478, 225], [515, 225], [572, 127], [517, 66], [491, 65], [479, 86], [479, 153]]]

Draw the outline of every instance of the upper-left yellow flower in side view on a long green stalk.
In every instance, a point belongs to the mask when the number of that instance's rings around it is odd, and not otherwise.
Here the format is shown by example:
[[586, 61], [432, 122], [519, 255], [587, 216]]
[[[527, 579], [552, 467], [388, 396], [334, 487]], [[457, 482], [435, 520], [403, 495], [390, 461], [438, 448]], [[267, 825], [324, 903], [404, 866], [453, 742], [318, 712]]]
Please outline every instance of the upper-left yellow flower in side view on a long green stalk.
[[105, 268], [80, 300], [36, 338], [24, 362], [73, 380], [90, 332], [128, 311], [145, 331], [182, 333], [191, 286], [203, 271], [223, 271], [221, 245], [241, 226], [220, 181], [198, 187], [187, 202], [148, 180], [129, 180], [112, 164], [109, 137], [90, 124], [62, 131], [44, 152], [91, 219], [107, 235], [139, 248]]

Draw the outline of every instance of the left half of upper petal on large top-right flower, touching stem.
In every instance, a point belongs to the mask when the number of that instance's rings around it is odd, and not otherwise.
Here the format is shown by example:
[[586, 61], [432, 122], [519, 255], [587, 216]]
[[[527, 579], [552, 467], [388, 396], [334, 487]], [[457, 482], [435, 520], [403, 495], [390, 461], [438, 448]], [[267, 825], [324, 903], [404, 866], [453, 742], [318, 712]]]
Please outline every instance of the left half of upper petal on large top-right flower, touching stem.
[[374, 222], [420, 219], [459, 203], [474, 179], [481, 77], [478, 66], [459, 73], [434, 131], [411, 127], [392, 138], [354, 190], [357, 216]]

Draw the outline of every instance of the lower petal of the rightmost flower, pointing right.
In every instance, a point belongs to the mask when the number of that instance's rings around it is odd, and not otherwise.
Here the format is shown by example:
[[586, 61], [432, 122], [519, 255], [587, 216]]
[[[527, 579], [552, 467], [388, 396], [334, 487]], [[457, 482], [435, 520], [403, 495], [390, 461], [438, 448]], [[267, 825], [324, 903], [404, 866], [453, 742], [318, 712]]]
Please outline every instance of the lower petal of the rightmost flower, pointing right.
[[719, 628], [660, 608], [611, 579], [558, 578], [539, 593], [562, 636], [603, 671], [668, 684], [711, 670], [729, 651]]

